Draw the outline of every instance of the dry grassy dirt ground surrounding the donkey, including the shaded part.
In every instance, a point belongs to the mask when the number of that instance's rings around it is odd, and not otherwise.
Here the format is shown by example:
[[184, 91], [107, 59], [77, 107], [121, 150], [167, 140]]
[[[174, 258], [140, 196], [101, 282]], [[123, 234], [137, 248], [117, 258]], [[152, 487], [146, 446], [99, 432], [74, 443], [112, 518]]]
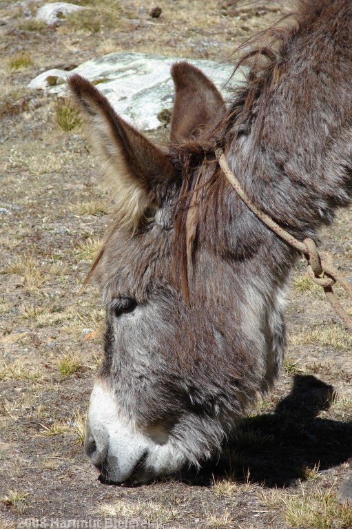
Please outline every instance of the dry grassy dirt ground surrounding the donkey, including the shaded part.
[[[351, 528], [352, 508], [338, 490], [352, 473], [352, 340], [302, 277], [302, 263], [289, 295], [280, 382], [217, 464], [123, 488], [101, 484], [85, 457], [103, 312], [94, 286], [79, 289], [107, 223], [105, 196], [79, 121], [73, 116], [76, 126], [65, 132], [54, 96], [26, 86], [43, 70], [112, 51], [235, 61], [236, 46], [284, 7], [76, 3], [89, 8], [84, 16], [46, 27], [25, 16], [41, 1], [0, 2], [0, 529]], [[156, 6], [162, 13], [152, 18]], [[322, 234], [322, 247], [350, 279], [351, 213], [340, 212]]]

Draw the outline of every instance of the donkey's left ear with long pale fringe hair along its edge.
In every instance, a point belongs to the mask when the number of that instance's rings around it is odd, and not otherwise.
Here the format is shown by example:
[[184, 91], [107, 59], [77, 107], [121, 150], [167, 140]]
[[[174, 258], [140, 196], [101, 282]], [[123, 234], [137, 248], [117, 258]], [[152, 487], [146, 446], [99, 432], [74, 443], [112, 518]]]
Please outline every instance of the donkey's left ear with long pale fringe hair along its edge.
[[68, 87], [85, 116], [92, 143], [105, 160], [121, 223], [136, 228], [145, 211], [158, 206], [163, 188], [175, 176], [174, 168], [160, 149], [116, 114], [92, 83], [75, 74]]

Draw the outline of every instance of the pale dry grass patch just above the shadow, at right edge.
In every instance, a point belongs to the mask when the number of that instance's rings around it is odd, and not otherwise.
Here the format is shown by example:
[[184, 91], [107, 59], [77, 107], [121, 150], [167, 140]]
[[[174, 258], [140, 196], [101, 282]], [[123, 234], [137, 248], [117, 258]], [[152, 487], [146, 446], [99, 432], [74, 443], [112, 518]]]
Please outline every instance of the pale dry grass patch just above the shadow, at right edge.
[[333, 349], [349, 349], [352, 346], [352, 337], [342, 326], [329, 324], [305, 329], [297, 333], [291, 333], [289, 342], [292, 345], [318, 344]]

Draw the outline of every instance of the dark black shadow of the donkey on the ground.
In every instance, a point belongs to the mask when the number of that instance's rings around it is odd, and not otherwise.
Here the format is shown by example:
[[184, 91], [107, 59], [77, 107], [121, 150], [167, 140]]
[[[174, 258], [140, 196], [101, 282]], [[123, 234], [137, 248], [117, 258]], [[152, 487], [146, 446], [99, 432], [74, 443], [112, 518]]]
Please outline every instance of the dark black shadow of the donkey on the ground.
[[209, 485], [214, 478], [230, 476], [284, 487], [304, 479], [304, 468], [322, 471], [344, 463], [352, 457], [352, 422], [318, 417], [334, 395], [333, 386], [318, 378], [296, 375], [291, 393], [275, 411], [244, 419], [224, 455], [183, 481]]

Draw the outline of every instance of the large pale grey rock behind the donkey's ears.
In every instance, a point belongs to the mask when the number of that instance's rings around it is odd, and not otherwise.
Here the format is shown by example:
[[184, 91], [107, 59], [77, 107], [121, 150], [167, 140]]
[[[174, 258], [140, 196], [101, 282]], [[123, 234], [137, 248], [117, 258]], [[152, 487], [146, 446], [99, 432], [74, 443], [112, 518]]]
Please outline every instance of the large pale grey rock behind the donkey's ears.
[[[126, 121], [148, 131], [167, 123], [165, 116], [171, 112], [174, 101], [170, 69], [173, 63], [184, 60], [142, 53], [110, 53], [87, 61], [70, 72], [59, 69], [43, 72], [28, 86], [63, 96], [68, 76], [80, 74], [96, 85]], [[200, 60], [189, 60], [189, 63], [203, 70], [225, 99], [243, 81], [243, 70], [231, 78], [234, 72], [231, 64]]]

